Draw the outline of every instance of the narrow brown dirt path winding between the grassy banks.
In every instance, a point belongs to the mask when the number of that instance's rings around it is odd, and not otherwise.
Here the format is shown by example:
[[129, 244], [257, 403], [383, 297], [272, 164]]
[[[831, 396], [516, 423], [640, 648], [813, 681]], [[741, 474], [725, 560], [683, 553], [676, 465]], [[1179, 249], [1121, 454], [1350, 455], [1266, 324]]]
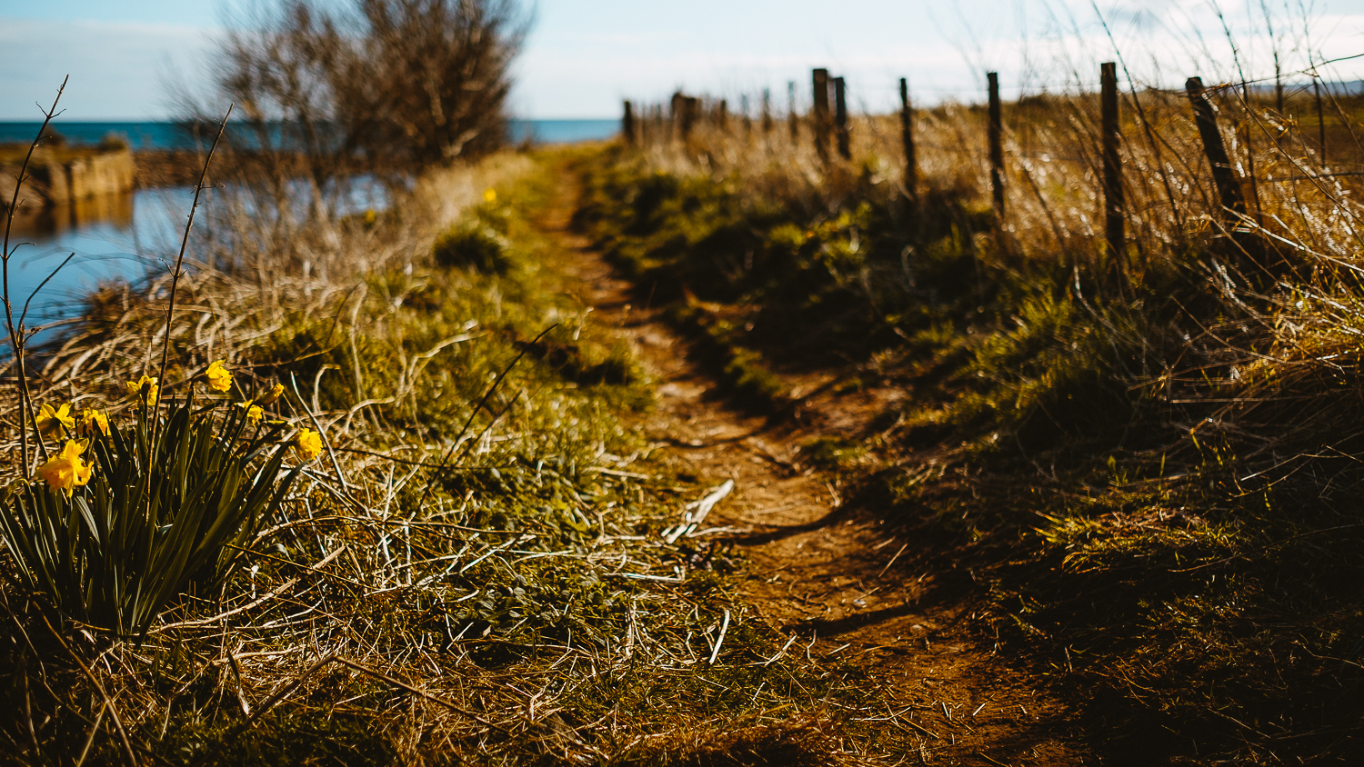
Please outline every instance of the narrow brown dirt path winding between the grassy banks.
[[922, 763], [1097, 763], [1042, 680], [1011, 669], [993, 643], [982, 646], [967, 631], [964, 604], [930, 598], [938, 574], [896, 567], [913, 539], [844, 511], [828, 478], [798, 467], [797, 447], [814, 436], [809, 424], [848, 420], [839, 398], [817, 402], [803, 428], [728, 409], [689, 342], [657, 309], [633, 305], [633, 286], [573, 232], [576, 193], [565, 177], [543, 226], [567, 253], [578, 298], [633, 345], [657, 381], [648, 436], [671, 445], [697, 477], [734, 480], [707, 525], [737, 529], [732, 541], [754, 565], [745, 597], [761, 619], [812, 658], [865, 663], [884, 691], [885, 726], [902, 730]]

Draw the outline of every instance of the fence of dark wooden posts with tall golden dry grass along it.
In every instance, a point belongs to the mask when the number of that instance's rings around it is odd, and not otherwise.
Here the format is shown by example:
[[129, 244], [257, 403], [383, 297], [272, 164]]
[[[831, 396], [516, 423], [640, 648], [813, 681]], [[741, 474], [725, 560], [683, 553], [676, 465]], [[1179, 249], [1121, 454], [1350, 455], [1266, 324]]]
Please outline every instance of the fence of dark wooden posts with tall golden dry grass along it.
[[738, 108], [678, 91], [630, 104], [622, 134], [664, 165], [782, 184], [812, 211], [868, 193], [848, 181], [857, 177], [878, 183], [872, 193], [906, 221], [930, 215], [947, 191], [974, 189], [1024, 259], [1091, 274], [1120, 262], [1127, 281], [1207, 237], [1262, 260], [1296, 249], [1353, 262], [1364, 251], [1364, 98], [1324, 83], [1320, 69], [1357, 57], [1278, 80], [1191, 78], [1184, 90], [1120, 80], [1110, 63], [1098, 90], [1071, 82], [1067, 93], [1011, 102], [988, 74], [983, 104], [925, 109], [902, 80], [898, 114], [850, 113], [851, 89], [816, 69], [802, 109], [795, 87], [784, 105], [761, 93]]

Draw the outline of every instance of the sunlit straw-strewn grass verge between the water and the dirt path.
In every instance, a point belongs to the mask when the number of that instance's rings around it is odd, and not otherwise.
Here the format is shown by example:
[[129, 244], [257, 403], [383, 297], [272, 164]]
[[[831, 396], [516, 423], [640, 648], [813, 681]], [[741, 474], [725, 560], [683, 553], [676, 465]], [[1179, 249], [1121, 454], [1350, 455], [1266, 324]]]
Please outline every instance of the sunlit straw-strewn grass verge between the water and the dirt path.
[[[728, 595], [735, 563], [705, 538], [659, 537], [705, 486], [671, 477], [629, 425], [649, 381], [562, 292], [533, 225], [558, 162], [434, 173], [372, 218], [211, 200], [165, 395], [226, 358], [243, 391], [284, 383], [285, 414], [315, 422], [326, 451], [222, 594], [186, 598], [145, 640], [49, 624], [41, 595], [7, 582], [5, 759], [642, 764], [743, 747], [861, 760], [818, 734], [839, 732], [828, 721], [784, 723], [858, 698], [857, 678], [754, 663], [786, 638]], [[498, 233], [506, 272], [432, 264], [441, 232], [469, 222]], [[123, 380], [155, 372], [168, 290], [91, 296], [31, 360], [35, 402], [117, 417]], [[16, 420], [4, 429], [16, 477]]]

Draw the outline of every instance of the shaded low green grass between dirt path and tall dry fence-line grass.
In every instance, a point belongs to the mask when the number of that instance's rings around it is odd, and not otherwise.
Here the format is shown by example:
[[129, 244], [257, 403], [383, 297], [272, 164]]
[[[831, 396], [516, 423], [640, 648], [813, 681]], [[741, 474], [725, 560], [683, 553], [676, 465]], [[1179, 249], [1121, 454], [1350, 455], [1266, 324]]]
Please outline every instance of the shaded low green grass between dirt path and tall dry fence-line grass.
[[828, 435], [802, 462], [861, 475], [857, 503], [925, 544], [903, 567], [968, 569], [982, 638], [1083, 689], [1114, 757], [1356, 753], [1356, 282], [1266, 296], [1200, 236], [1117, 279], [996, 233], [951, 181], [910, 226], [859, 177], [828, 173], [821, 206], [779, 170], [679, 166], [603, 153], [580, 222], [720, 345], [734, 390], [821, 369], [904, 391], [873, 420], [892, 437]]

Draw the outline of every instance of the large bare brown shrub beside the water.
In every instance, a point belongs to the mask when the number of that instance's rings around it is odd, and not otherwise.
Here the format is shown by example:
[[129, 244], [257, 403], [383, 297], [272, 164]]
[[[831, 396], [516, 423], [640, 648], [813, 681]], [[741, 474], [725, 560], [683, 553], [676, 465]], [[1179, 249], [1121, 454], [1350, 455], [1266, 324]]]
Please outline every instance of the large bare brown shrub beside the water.
[[299, 180], [334, 199], [357, 173], [394, 184], [502, 146], [528, 26], [516, 0], [254, 5], [211, 60], [217, 108], [180, 102], [192, 125], [235, 104], [232, 166], [278, 200]]

